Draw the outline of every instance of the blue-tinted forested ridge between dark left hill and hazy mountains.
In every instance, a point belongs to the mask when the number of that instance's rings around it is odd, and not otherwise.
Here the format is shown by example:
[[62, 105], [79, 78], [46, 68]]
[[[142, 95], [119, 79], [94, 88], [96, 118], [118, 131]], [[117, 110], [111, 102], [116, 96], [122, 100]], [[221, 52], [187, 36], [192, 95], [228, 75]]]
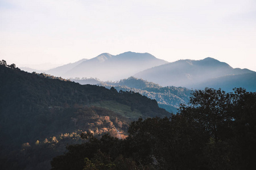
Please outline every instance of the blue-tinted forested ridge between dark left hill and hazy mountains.
[[191, 96], [191, 90], [184, 87], [167, 86], [147, 82], [143, 79], [130, 77], [119, 80], [118, 82], [101, 82], [98, 79], [72, 79], [80, 84], [95, 83], [106, 88], [114, 87], [117, 91], [134, 91], [150, 99], [158, 101], [161, 108], [171, 113], [176, 113], [180, 104], [187, 104]]

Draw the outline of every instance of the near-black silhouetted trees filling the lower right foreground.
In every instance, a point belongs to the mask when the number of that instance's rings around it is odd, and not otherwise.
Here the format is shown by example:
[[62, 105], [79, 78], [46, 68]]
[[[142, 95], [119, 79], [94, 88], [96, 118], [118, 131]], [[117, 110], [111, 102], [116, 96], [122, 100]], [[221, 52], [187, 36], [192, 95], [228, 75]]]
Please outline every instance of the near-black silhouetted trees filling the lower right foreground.
[[205, 88], [170, 118], [130, 124], [124, 140], [88, 139], [51, 162], [57, 169], [254, 169], [256, 93]]

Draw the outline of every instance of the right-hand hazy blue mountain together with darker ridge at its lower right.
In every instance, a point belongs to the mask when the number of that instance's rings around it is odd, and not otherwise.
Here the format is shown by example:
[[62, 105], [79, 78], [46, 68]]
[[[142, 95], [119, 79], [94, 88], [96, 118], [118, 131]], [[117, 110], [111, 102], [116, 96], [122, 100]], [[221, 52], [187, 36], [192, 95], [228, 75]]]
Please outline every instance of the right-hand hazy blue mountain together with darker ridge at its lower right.
[[[249, 74], [250, 73], [250, 74]], [[238, 76], [245, 75], [245, 76]], [[214, 58], [201, 60], [183, 59], [151, 69], [141, 71], [134, 75], [150, 82], [155, 82], [161, 86], [181, 86], [187, 88], [226, 88], [232, 90], [234, 87], [247, 88], [250, 80], [250, 87], [256, 90], [255, 72], [248, 69], [233, 69], [225, 62], [220, 62]], [[222, 78], [228, 76], [229, 78]], [[254, 78], [252, 80], [251, 78]]]

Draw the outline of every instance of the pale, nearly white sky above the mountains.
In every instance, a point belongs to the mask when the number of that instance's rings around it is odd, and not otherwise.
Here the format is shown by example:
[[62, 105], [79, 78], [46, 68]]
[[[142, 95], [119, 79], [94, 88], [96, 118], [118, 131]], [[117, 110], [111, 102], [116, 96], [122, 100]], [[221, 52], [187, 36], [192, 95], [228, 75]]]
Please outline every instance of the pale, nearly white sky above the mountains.
[[49, 69], [127, 51], [256, 71], [256, 1], [0, 0], [0, 59], [9, 64]]

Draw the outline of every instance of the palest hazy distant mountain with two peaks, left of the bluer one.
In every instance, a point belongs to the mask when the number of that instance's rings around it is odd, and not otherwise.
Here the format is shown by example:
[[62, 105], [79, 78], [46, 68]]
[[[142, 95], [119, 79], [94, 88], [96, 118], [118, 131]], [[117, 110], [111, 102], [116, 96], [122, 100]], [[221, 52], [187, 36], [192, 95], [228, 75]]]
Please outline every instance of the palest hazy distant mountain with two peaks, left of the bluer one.
[[109, 53], [100, 54], [88, 59], [63, 74], [64, 78], [93, 77], [101, 80], [120, 80], [139, 71], [168, 63], [149, 53], [126, 52], [113, 56]]

